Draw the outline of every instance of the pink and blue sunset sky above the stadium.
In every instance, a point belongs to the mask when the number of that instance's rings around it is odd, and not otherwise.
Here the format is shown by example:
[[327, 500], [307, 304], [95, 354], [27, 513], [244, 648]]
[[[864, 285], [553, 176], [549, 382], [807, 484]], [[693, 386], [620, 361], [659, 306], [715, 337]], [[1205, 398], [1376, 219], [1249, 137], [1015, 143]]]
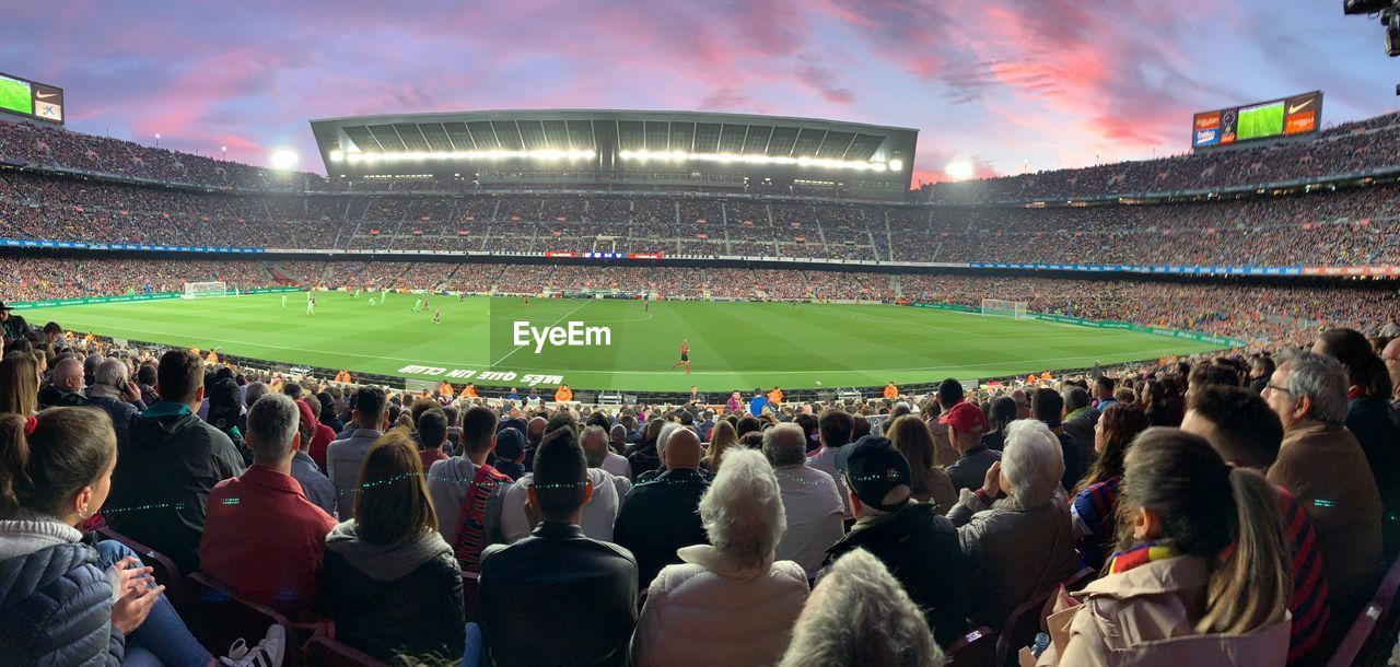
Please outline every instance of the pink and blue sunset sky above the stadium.
[[69, 129], [323, 172], [309, 119], [615, 108], [916, 127], [916, 179], [1186, 150], [1191, 112], [1322, 89], [1400, 108], [1340, 0], [8, 1], [0, 71]]

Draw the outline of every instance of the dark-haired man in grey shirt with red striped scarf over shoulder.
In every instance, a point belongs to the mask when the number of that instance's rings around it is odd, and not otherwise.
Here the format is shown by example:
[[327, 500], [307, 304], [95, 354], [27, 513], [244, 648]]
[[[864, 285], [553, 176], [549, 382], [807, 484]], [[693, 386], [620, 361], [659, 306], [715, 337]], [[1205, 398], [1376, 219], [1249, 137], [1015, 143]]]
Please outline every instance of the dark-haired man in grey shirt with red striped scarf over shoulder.
[[[507, 474], [487, 463], [498, 438], [496, 424], [494, 411], [472, 407], [462, 417], [463, 456], [451, 456], [428, 468], [438, 533], [468, 572], [480, 572], [482, 550], [500, 540], [500, 496], [511, 484]], [[519, 431], [507, 431], [519, 439]]]

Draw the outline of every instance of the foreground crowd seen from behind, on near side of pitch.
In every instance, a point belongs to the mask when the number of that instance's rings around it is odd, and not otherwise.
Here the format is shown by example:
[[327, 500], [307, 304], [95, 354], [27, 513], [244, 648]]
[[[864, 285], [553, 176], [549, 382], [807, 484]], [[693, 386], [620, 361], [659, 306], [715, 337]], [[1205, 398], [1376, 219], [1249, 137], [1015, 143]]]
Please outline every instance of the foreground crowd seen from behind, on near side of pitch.
[[1316, 664], [1400, 552], [1390, 340], [609, 408], [7, 326], [0, 659], [211, 663], [160, 552], [291, 621], [220, 664]]

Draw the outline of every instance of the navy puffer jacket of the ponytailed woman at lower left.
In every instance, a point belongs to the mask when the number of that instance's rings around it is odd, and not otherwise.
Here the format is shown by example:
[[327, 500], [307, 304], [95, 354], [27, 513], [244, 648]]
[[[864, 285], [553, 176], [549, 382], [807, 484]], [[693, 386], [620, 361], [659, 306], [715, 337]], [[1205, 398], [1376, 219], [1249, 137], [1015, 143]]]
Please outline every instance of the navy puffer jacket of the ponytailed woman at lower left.
[[59, 544], [0, 561], [0, 664], [118, 666], [125, 643], [91, 547]]

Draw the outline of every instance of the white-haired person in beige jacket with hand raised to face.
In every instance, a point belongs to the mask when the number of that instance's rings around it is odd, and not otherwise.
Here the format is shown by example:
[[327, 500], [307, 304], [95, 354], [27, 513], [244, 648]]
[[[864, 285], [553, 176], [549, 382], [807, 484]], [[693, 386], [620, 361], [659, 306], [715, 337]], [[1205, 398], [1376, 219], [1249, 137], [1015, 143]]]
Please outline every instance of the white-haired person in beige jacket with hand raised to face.
[[[1001, 461], [981, 488], [963, 489], [948, 519], [967, 558], [969, 618], [1000, 629], [1018, 605], [1064, 582], [1079, 566], [1070, 509], [1056, 498], [1064, 474], [1060, 440], [1044, 424], [1018, 419], [1007, 429]], [[1007, 498], [994, 501], [1005, 491]], [[1025, 564], [1037, 564], [1026, 568]]]

